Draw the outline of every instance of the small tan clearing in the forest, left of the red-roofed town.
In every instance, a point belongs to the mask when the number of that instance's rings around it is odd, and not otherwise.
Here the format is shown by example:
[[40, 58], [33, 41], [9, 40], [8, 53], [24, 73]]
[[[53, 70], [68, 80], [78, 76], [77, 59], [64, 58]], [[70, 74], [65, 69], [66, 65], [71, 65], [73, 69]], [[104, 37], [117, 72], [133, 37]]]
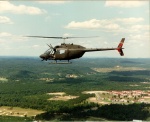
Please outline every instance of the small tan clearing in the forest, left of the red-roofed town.
[[68, 101], [70, 99], [78, 98], [79, 96], [71, 96], [71, 95], [65, 95], [65, 92], [55, 92], [55, 93], [47, 93], [48, 95], [53, 95], [54, 97], [48, 99], [48, 100], [62, 100], [62, 101]]

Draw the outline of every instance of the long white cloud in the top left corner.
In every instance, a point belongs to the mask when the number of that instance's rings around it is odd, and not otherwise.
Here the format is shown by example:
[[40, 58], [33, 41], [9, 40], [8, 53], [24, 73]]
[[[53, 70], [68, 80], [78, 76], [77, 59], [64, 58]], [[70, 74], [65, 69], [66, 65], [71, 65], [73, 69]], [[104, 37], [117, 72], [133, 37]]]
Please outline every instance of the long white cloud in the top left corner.
[[43, 14], [46, 11], [33, 6], [25, 5], [14, 5], [8, 1], [0, 1], [0, 13], [9, 12], [13, 14], [29, 14], [29, 15], [38, 15]]

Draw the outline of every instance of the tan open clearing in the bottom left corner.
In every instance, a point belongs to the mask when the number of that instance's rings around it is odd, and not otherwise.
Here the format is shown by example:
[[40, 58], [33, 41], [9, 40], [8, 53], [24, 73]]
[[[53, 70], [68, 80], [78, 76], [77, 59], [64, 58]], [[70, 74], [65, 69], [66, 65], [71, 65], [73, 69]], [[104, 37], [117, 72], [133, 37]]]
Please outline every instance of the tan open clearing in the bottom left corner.
[[1, 116], [31, 117], [41, 113], [44, 113], [44, 111], [34, 109], [24, 109], [20, 107], [8, 107], [8, 106], [0, 107]]

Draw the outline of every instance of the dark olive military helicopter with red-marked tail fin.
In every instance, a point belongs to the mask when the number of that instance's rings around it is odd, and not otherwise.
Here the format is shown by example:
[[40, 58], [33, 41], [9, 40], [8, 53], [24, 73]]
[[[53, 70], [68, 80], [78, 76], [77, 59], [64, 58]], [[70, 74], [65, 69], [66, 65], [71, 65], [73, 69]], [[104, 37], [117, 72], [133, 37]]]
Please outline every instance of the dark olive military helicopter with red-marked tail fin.
[[121, 56], [124, 55], [122, 51], [122, 49], [124, 48], [122, 48], [122, 46], [125, 38], [121, 39], [119, 45], [116, 48], [86, 48], [81, 45], [76, 45], [73, 43], [66, 44], [65, 40], [70, 38], [87, 38], [87, 37], [45, 37], [45, 36], [27, 36], [27, 37], [54, 38], [64, 40], [64, 43], [61, 43], [61, 45], [56, 45], [55, 47], [53, 47], [51, 44], [49, 45], [47, 44], [49, 46], [49, 49], [39, 56], [42, 59], [42, 61], [55, 60], [54, 63], [58, 63], [57, 60], [67, 60], [68, 62], [62, 63], [71, 63], [69, 62], [71, 59], [81, 58], [85, 52], [92, 52], [92, 51], [118, 50]]

